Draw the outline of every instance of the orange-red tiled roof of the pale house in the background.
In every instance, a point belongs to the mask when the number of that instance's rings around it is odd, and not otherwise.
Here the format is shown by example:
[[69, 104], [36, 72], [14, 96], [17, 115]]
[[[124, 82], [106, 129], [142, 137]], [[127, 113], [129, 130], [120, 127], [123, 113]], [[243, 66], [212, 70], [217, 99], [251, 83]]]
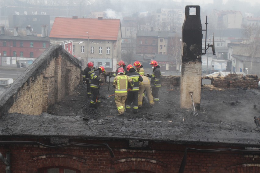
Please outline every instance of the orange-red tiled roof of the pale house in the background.
[[[88, 34], [86, 33], [88, 32]], [[120, 19], [87, 19], [56, 17], [50, 38], [117, 40]]]

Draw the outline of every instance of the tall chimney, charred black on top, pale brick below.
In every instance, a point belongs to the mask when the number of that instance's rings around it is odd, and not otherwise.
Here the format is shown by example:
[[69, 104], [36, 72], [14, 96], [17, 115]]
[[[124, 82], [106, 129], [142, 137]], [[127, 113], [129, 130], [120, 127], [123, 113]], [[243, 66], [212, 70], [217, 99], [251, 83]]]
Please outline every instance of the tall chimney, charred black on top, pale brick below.
[[[196, 15], [190, 15], [190, 8], [196, 9]], [[200, 109], [201, 52], [202, 26], [200, 6], [188, 5], [185, 8], [185, 20], [182, 26], [181, 108], [193, 109], [190, 96], [190, 91], [192, 91], [195, 108], [197, 110]]]

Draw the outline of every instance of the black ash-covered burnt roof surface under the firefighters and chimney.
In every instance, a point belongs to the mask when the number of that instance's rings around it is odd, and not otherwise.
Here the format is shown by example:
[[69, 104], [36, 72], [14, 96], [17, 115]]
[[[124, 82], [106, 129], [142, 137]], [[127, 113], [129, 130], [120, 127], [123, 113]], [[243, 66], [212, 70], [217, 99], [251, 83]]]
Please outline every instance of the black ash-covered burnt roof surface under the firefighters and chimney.
[[[112, 81], [112, 79], [111, 79]], [[39, 116], [9, 114], [0, 120], [0, 135], [70, 136], [85, 139], [149, 139], [180, 144], [257, 146], [260, 134], [254, 117], [260, 113], [258, 89], [226, 89], [204, 85], [199, 116], [180, 109], [180, 88], [164, 86], [160, 102], [143, 105], [138, 114], [117, 116], [114, 96], [101, 86], [103, 108], [88, 108], [87, 88], [79, 84], [73, 93]], [[109, 95], [114, 94], [112, 82]], [[103, 98], [103, 99], [102, 99]], [[255, 108], [254, 108], [254, 105]]]

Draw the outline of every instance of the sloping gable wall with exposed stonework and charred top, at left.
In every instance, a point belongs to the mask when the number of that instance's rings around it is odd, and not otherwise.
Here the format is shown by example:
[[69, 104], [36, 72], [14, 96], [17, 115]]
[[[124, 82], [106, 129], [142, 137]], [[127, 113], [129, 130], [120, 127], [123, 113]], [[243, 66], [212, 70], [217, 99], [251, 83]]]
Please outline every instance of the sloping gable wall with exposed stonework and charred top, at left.
[[79, 84], [81, 63], [60, 45], [48, 48], [10, 86], [0, 100], [5, 113], [40, 115]]

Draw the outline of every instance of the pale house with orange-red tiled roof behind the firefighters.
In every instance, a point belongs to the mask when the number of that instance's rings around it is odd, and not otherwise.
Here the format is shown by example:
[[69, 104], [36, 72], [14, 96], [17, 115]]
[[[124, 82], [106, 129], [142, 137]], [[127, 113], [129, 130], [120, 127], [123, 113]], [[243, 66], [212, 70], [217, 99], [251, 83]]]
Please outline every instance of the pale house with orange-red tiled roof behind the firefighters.
[[115, 71], [121, 60], [120, 19], [56, 17], [49, 35], [51, 44], [72, 43], [72, 55], [95, 67]]

